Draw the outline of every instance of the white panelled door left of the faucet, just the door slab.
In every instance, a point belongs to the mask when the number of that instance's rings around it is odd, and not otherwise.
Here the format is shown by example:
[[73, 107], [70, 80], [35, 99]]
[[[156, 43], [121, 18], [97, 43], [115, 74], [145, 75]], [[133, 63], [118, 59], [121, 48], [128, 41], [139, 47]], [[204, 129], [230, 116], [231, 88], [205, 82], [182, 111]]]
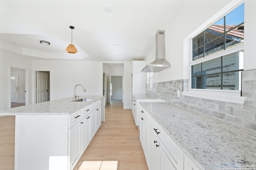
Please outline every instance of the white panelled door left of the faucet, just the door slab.
[[36, 72], [36, 103], [48, 100], [48, 73]]

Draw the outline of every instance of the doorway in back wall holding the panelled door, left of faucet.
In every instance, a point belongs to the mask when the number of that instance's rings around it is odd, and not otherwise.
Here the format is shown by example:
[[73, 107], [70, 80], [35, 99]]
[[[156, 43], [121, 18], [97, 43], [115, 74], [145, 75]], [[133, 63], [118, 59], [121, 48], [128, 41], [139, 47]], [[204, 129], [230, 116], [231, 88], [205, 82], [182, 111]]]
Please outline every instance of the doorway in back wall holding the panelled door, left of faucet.
[[36, 71], [35, 75], [36, 103], [50, 101], [50, 71]]

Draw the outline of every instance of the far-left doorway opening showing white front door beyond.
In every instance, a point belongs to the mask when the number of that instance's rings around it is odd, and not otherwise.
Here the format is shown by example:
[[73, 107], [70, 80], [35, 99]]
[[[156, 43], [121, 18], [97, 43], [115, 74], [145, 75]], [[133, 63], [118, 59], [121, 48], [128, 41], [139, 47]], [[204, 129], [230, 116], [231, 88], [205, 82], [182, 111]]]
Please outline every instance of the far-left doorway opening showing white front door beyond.
[[10, 107], [26, 105], [26, 69], [10, 67]]

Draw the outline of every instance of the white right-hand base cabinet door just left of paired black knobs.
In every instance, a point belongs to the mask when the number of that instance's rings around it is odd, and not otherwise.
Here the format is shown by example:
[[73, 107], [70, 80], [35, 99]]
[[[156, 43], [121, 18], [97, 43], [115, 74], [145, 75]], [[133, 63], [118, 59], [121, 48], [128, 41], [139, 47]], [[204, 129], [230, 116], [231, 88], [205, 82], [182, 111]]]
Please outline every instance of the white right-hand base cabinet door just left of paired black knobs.
[[154, 132], [148, 127], [148, 164], [149, 170], [159, 170], [159, 149], [158, 139], [155, 137]]

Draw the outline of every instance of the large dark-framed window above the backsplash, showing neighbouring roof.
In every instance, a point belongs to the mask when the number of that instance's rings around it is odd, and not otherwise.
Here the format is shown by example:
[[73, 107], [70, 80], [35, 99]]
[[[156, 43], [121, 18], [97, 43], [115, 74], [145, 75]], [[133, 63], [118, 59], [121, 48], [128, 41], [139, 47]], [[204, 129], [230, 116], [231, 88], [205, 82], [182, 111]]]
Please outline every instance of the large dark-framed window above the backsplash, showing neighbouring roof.
[[243, 43], [241, 4], [192, 38], [191, 88], [240, 90], [244, 50], [239, 45]]

